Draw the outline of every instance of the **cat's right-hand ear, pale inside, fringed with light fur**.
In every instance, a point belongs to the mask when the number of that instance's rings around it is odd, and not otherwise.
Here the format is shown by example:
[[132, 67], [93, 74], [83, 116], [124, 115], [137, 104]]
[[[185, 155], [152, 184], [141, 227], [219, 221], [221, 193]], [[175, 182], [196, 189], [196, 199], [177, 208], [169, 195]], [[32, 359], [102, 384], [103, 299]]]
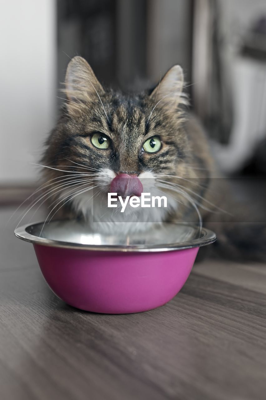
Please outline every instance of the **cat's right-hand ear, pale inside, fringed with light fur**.
[[161, 79], [150, 98], [169, 107], [177, 107], [180, 103], [187, 104], [187, 98], [182, 92], [183, 86], [183, 69], [180, 65], [174, 65]]

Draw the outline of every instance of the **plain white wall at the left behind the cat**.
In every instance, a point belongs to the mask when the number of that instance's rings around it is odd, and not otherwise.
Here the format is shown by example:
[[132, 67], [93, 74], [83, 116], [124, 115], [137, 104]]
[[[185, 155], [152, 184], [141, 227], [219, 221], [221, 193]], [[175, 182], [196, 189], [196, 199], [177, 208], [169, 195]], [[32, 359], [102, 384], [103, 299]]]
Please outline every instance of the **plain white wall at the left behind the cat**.
[[28, 184], [56, 117], [56, 2], [0, 6], [0, 185]]

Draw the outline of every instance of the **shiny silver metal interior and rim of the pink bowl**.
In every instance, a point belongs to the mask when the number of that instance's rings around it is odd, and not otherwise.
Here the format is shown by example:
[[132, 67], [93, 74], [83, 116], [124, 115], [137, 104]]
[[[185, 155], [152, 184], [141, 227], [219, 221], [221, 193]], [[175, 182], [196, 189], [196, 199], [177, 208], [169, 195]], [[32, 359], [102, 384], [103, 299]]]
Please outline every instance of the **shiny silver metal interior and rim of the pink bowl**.
[[[149, 231], [104, 235], [75, 220], [43, 222], [16, 228], [15, 235], [27, 242], [62, 248], [120, 252], [162, 252], [206, 246], [216, 240], [205, 228], [188, 224], [163, 223]], [[42, 229], [43, 228], [43, 229]]]

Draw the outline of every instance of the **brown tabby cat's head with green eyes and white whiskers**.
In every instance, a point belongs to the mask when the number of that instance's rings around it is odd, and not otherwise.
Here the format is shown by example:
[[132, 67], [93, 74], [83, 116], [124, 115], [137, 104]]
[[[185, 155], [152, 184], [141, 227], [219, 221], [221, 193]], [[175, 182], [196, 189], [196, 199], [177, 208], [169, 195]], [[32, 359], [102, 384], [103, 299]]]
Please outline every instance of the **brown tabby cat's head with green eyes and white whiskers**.
[[[111, 183], [119, 174], [136, 176], [145, 192], [167, 192], [160, 181], [183, 174], [189, 152], [183, 129], [183, 81], [182, 68], [173, 66], [151, 93], [121, 94], [105, 90], [83, 58], [69, 62], [66, 104], [43, 158], [46, 179], [52, 179], [54, 189], [50, 196], [58, 199], [58, 208], [67, 203], [87, 218], [102, 218], [97, 206], [106, 206]], [[176, 206], [169, 197], [168, 212]], [[102, 221], [111, 218], [108, 211]], [[149, 220], [143, 214], [149, 210], [136, 212], [141, 222]], [[150, 219], [160, 222], [165, 213], [160, 210]]]

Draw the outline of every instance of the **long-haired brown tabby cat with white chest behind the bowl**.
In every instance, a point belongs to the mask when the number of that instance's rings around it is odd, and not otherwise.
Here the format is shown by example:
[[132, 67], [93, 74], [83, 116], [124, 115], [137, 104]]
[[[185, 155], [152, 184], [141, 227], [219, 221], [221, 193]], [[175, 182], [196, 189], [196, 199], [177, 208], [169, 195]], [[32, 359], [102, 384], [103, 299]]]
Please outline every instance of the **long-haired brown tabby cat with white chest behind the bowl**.
[[[230, 248], [234, 240], [229, 243], [224, 232], [232, 216], [222, 209], [227, 192], [183, 89], [183, 70], [175, 65], [153, 90], [106, 90], [87, 61], [74, 57], [66, 71], [66, 102], [42, 158], [54, 204], [49, 216], [61, 212], [97, 232], [122, 234], [164, 221], [212, 228], [215, 220], [216, 247]], [[165, 196], [167, 208], [108, 208], [107, 193], [122, 174], [140, 182], [143, 192]]]

